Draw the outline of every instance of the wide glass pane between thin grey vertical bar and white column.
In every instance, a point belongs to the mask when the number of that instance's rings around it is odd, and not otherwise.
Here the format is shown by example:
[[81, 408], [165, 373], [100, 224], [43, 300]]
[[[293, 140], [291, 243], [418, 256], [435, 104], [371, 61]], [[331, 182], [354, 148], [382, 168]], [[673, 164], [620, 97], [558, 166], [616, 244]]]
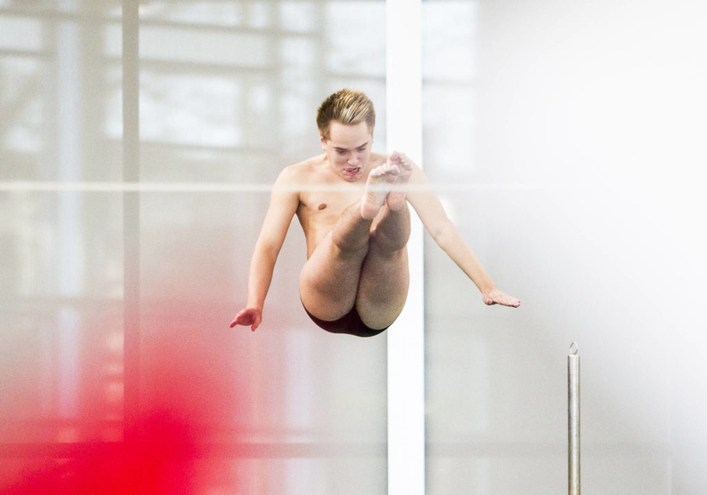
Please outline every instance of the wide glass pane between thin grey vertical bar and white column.
[[[321, 152], [321, 100], [345, 78], [385, 114], [385, 6], [364, 4], [152, 2], [141, 16], [140, 175], [177, 187], [140, 196], [141, 407], [196, 425], [211, 455], [226, 450], [201, 462], [205, 474], [233, 472], [245, 492], [385, 491], [385, 339], [328, 334], [308, 319], [297, 222], [261, 327], [228, 328], [245, 304], [270, 185]], [[354, 26], [368, 24], [378, 33], [355, 42]], [[325, 64], [361, 58], [370, 74]]]

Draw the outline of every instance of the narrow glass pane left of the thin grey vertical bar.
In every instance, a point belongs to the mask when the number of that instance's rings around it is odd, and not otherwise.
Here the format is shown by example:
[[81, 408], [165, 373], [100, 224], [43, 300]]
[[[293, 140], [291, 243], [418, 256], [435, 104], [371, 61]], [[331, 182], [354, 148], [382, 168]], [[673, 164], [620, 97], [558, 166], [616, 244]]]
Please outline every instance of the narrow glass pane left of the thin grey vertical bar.
[[105, 36], [120, 19], [112, 2], [56, 4], [0, 18], [4, 493], [63, 489], [82, 445], [123, 436], [122, 196], [90, 187], [122, 173]]

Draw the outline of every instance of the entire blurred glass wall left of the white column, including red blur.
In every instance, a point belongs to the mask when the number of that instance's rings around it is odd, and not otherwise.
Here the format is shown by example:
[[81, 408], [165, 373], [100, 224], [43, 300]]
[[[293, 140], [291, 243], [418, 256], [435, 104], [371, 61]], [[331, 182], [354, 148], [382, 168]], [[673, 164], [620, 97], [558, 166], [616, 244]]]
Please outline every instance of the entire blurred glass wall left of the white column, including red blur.
[[321, 101], [366, 91], [385, 151], [385, 3], [141, 5], [140, 192], [122, 8], [56, 4], [0, 2], [0, 491], [385, 493], [385, 336], [309, 320], [296, 222], [262, 326], [228, 327]]

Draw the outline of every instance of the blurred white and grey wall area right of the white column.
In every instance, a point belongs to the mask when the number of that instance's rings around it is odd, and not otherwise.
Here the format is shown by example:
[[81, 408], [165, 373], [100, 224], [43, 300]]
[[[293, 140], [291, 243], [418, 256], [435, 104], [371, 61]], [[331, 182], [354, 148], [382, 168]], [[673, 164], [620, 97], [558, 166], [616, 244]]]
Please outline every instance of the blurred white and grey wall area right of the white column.
[[423, 5], [426, 173], [522, 301], [426, 245], [428, 491], [566, 490], [573, 341], [585, 491], [706, 491], [707, 7]]

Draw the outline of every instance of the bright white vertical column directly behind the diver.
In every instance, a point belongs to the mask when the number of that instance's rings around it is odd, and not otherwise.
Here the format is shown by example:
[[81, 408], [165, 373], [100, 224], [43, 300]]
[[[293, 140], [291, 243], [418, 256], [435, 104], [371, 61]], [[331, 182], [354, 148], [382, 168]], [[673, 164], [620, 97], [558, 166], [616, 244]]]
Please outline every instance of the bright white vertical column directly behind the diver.
[[[421, 0], [387, 0], [387, 149], [422, 166]], [[425, 491], [422, 226], [412, 214], [410, 291], [387, 331], [388, 494]]]

